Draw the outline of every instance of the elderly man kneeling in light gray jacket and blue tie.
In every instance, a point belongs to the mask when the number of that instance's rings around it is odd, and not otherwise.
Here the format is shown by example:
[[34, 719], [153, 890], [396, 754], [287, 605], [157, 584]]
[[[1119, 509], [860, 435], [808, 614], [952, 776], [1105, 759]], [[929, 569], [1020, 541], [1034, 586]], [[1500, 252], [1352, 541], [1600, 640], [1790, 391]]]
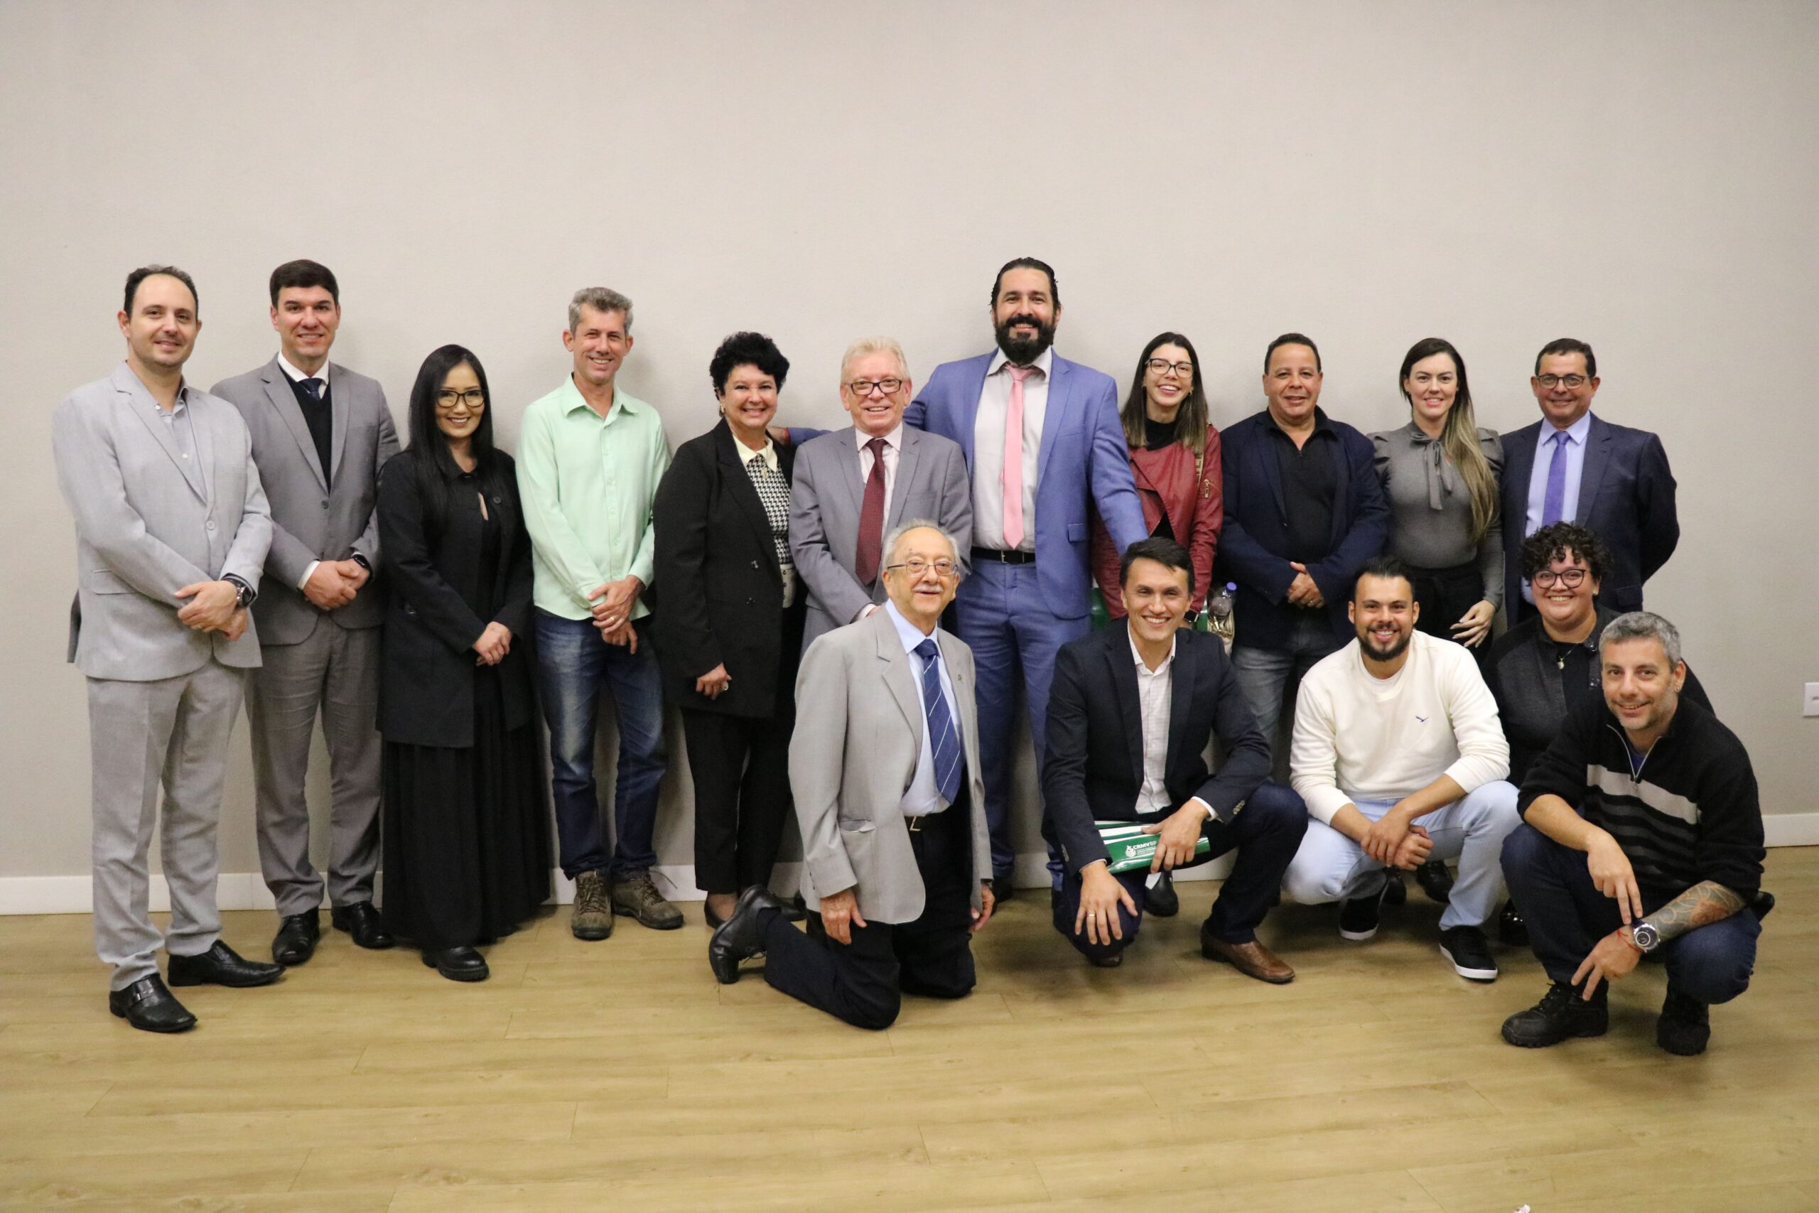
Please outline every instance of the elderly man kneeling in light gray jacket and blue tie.
[[973, 989], [971, 935], [991, 918], [991, 842], [973, 653], [940, 631], [960, 549], [933, 522], [886, 540], [889, 602], [809, 646], [789, 742], [808, 933], [762, 884], [713, 933], [722, 984], [764, 980], [857, 1028], [889, 1028], [902, 995]]

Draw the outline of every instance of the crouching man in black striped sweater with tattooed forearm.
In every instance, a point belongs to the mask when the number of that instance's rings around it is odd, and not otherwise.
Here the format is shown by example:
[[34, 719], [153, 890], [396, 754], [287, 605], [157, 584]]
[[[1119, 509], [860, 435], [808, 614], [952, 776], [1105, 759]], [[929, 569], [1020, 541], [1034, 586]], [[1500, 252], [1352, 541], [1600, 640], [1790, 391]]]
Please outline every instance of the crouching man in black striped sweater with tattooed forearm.
[[1537, 1049], [1608, 1028], [1608, 982], [1644, 958], [1668, 971], [1655, 1042], [1712, 1037], [1708, 1006], [1750, 986], [1761, 915], [1763, 811], [1743, 742], [1681, 698], [1673, 624], [1633, 611], [1599, 640], [1604, 702], [1575, 711], [1535, 760], [1502, 844], [1510, 893], [1553, 986], [1502, 1024]]

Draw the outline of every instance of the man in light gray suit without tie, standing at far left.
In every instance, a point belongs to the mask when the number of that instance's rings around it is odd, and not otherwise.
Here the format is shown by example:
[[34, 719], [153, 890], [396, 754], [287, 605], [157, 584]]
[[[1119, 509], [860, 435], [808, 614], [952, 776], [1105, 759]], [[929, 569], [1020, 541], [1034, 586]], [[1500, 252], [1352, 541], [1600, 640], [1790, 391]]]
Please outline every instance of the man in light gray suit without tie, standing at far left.
[[[76, 520], [69, 660], [87, 675], [95, 817], [95, 951], [107, 1007], [133, 1028], [186, 1031], [171, 986], [264, 986], [276, 964], [220, 938], [215, 826], [246, 669], [247, 607], [271, 544], [253, 446], [233, 406], [184, 382], [202, 320], [180, 269], [126, 280], [126, 364], [56, 407], [56, 484]], [[171, 933], [151, 924], [147, 851], [164, 784]]]

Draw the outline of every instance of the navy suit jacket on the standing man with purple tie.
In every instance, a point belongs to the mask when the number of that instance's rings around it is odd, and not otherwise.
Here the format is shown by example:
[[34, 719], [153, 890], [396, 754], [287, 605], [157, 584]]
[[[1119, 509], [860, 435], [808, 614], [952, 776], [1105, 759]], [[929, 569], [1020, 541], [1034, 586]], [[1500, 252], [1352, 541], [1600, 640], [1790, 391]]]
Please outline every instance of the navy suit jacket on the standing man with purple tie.
[[[1528, 482], [1535, 471], [1541, 426], [1524, 426], [1502, 436], [1502, 567], [1510, 622], [1528, 618], [1535, 607], [1523, 602], [1523, 529], [1528, 526]], [[1661, 438], [1646, 429], [1612, 426], [1592, 415], [1586, 462], [1579, 476], [1573, 520], [1604, 540], [1610, 573], [1599, 586], [1599, 602], [1612, 609], [1641, 611], [1643, 582], [1655, 575], [1681, 542], [1673, 506], [1673, 471]]]

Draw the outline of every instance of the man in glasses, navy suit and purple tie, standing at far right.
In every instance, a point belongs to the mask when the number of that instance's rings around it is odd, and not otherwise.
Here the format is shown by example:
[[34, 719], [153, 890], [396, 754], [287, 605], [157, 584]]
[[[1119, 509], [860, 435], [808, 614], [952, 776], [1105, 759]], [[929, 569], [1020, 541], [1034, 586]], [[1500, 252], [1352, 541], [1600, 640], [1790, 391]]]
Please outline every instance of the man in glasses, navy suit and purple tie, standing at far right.
[[1528, 380], [1541, 418], [1502, 436], [1502, 564], [1510, 622], [1535, 613], [1523, 580], [1523, 540], [1553, 522], [1577, 522], [1610, 551], [1599, 602], [1643, 609], [1643, 582], [1681, 542], [1673, 471], [1661, 438], [1592, 415], [1597, 355], [1572, 336], [1548, 342]]

